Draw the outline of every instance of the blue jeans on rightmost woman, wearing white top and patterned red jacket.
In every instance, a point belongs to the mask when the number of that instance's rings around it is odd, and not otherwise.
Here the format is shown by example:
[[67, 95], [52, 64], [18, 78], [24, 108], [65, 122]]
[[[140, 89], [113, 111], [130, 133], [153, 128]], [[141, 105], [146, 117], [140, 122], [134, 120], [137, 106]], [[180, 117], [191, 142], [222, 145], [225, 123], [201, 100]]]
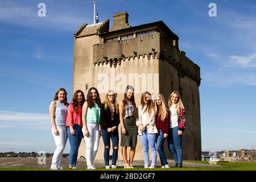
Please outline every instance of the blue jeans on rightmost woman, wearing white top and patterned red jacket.
[[176, 164], [182, 164], [182, 135], [178, 135], [179, 127], [169, 129], [168, 132], [168, 148], [174, 158]]

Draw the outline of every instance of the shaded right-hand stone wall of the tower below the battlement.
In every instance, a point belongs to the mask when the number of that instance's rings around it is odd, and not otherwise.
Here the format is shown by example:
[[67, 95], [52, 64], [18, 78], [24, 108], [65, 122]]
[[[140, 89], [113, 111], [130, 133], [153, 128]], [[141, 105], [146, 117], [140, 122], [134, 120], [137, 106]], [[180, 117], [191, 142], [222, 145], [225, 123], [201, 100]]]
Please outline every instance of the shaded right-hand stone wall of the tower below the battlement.
[[[189, 160], [201, 159], [201, 126], [200, 126], [200, 100], [199, 87], [191, 78], [178, 76], [177, 69], [168, 61], [159, 61], [159, 89], [163, 94], [166, 104], [171, 92], [177, 91], [185, 107], [186, 127], [183, 134], [183, 158]], [[180, 89], [181, 88], [181, 89]], [[167, 141], [164, 143], [167, 158], [171, 158], [168, 152]]]

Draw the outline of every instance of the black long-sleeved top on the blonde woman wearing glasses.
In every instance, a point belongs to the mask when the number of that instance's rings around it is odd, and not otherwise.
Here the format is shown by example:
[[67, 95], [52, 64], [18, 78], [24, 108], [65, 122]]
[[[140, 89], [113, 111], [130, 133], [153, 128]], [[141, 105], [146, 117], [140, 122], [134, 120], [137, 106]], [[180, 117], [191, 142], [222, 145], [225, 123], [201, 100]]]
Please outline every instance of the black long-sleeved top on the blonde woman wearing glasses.
[[105, 110], [105, 104], [101, 104], [101, 128], [104, 130], [108, 130], [109, 127], [117, 126], [119, 125], [119, 113], [114, 113], [114, 121], [111, 121], [111, 110], [109, 106]]

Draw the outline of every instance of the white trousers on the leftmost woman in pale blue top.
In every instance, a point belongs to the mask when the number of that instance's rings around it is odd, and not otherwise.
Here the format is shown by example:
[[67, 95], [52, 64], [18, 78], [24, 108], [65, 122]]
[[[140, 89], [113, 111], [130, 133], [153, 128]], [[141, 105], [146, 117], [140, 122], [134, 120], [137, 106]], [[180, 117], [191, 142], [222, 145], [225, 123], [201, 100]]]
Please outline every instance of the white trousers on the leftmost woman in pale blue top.
[[53, 127], [52, 127], [52, 135], [55, 140], [56, 144], [56, 150], [52, 156], [52, 165], [51, 169], [58, 169], [60, 168], [61, 159], [63, 156], [63, 151], [66, 146], [67, 140], [68, 140], [68, 134], [66, 127], [63, 126], [56, 126], [57, 130], [59, 131], [58, 135], [54, 134]]

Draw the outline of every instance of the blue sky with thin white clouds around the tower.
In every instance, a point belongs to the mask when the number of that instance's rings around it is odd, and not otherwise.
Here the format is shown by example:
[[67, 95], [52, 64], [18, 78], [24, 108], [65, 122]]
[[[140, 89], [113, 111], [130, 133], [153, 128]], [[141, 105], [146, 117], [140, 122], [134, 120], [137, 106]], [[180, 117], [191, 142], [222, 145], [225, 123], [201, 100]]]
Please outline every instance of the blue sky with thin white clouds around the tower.
[[[256, 148], [255, 1], [101, 0], [97, 10], [110, 27], [127, 11], [131, 26], [163, 20], [179, 36], [201, 68], [202, 150]], [[0, 152], [55, 150], [48, 106], [60, 87], [71, 101], [73, 33], [92, 22], [93, 1], [0, 1]]]

